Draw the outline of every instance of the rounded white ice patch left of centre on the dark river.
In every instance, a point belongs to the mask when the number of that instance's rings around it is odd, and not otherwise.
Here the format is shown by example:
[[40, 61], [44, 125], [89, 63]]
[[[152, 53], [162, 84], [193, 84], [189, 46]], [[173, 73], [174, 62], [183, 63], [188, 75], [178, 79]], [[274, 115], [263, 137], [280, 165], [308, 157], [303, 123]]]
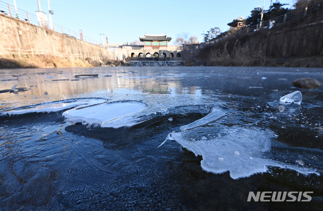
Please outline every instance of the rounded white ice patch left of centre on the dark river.
[[117, 101], [99, 105], [75, 108], [63, 113], [68, 122], [100, 127], [119, 128], [132, 126], [137, 123], [133, 114], [141, 112], [146, 105], [138, 101]]

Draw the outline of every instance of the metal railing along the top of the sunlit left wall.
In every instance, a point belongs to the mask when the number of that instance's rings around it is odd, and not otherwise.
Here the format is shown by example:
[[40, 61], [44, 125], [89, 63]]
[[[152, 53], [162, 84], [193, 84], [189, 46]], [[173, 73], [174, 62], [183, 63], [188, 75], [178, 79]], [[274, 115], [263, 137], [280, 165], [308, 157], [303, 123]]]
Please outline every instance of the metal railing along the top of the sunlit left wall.
[[[56, 31], [56, 32], [59, 32], [62, 34], [66, 34], [66, 35], [75, 37], [79, 40], [83, 40], [85, 42], [95, 44], [95, 45], [102, 47], [102, 42], [99, 42], [99, 41], [96, 41], [96, 40], [91, 39], [89, 37], [86, 37], [86, 36], [84, 36], [84, 34], [81, 35], [80, 33], [77, 33], [73, 30], [65, 28], [65, 27], [58, 25], [56, 23], [52, 23], [52, 25], [50, 26], [50, 23], [47, 20], [43, 20], [42, 18], [37, 17], [34, 14], [30, 14], [24, 10], [19, 9], [19, 8], [17, 8], [18, 14], [16, 14], [14, 6], [7, 4], [5, 2], [2, 2], [2, 1], [0, 1], [0, 12], [9, 16], [9, 17], [18, 18], [19, 20], [26, 21], [30, 24], [33, 24], [33, 25], [36, 25], [36, 26], [39, 26], [42, 28], [47, 28], [47, 29], [50, 29], [50, 30], [53, 30], [53, 31]], [[83, 39], [82, 39], [82, 37], [83, 37]]]

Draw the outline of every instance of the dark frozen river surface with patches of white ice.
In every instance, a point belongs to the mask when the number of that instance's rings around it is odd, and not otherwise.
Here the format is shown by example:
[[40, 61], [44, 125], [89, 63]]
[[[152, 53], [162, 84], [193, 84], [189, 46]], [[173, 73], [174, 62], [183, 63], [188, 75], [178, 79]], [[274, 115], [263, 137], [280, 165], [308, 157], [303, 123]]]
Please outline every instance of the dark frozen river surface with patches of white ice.
[[[323, 88], [292, 81], [322, 85], [322, 73], [0, 70], [0, 209], [319, 210]], [[75, 77], [85, 74], [97, 76]], [[300, 105], [280, 112], [296, 90]], [[250, 191], [313, 193], [309, 202], [248, 202]]]

